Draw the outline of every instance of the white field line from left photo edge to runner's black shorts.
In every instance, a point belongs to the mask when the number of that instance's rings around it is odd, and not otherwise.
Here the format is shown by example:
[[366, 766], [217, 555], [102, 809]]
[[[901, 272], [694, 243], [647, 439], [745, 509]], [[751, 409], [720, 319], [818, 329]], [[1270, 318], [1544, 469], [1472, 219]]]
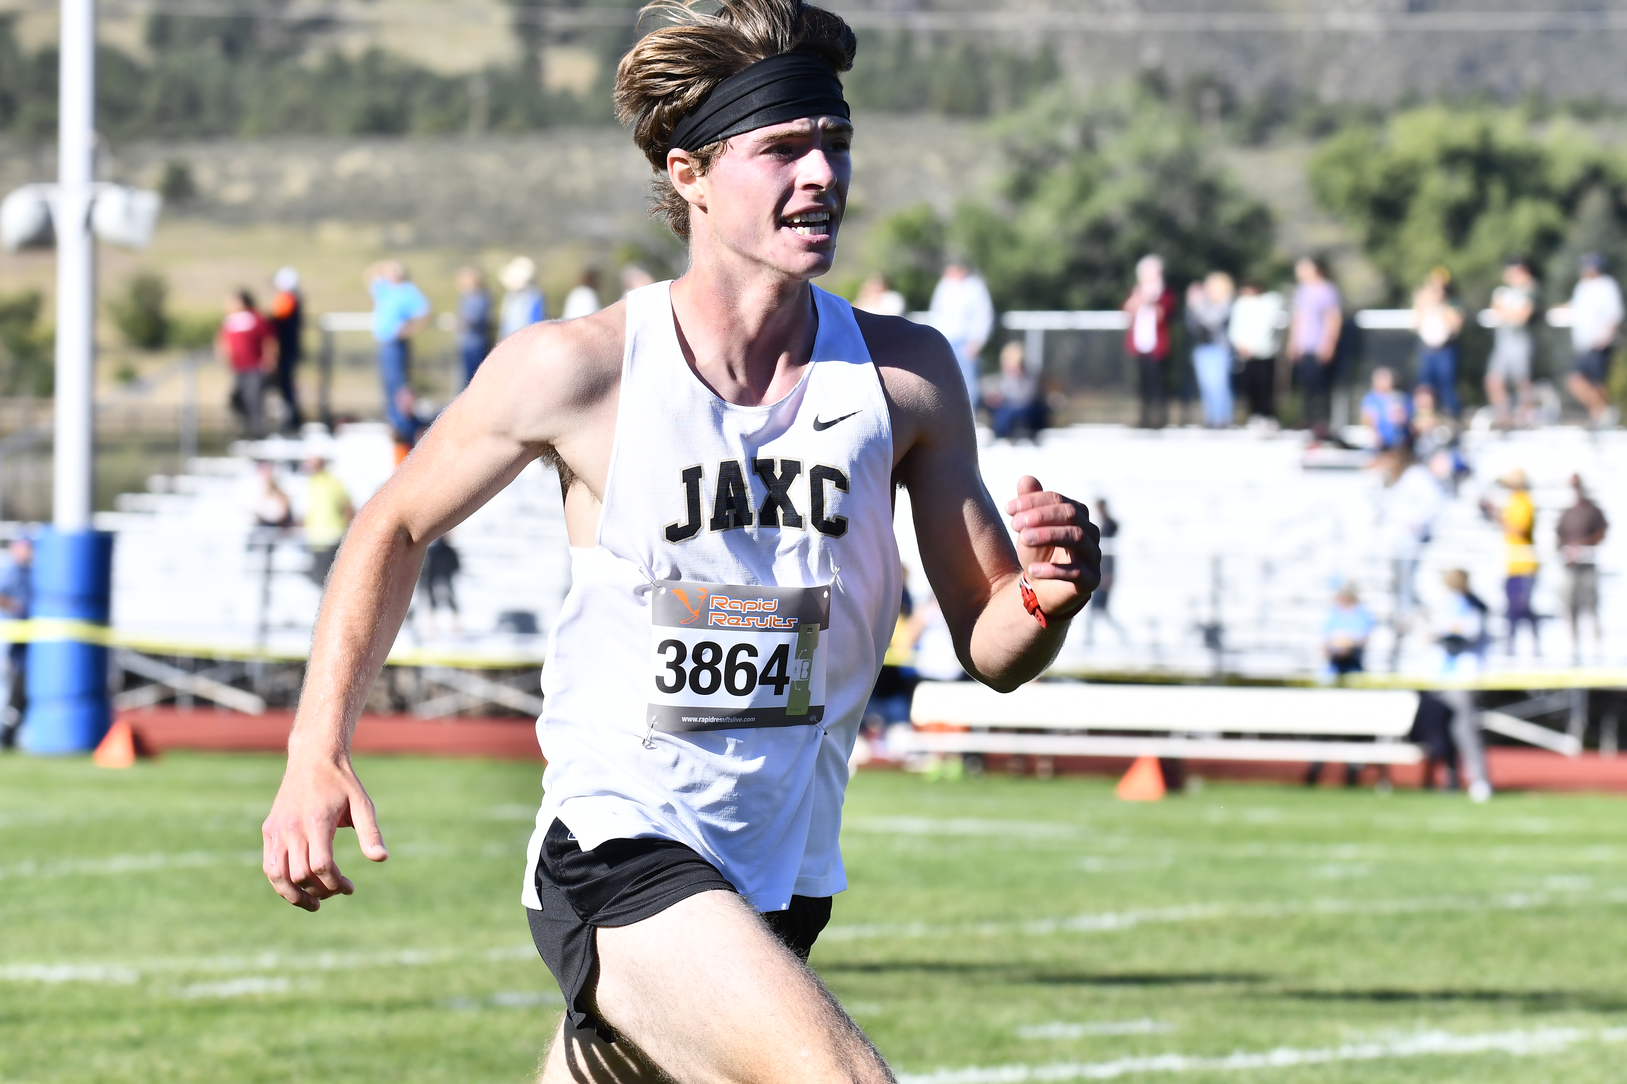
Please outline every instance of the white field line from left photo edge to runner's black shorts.
[[78, 964], [0, 964], [0, 982], [86, 982], [129, 985], [151, 975], [252, 975], [264, 972], [347, 972], [369, 967], [434, 967], [462, 962], [535, 959], [530, 944], [496, 949], [400, 949], [395, 952], [299, 952], [293, 949], [251, 956], [158, 956], [143, 960]]

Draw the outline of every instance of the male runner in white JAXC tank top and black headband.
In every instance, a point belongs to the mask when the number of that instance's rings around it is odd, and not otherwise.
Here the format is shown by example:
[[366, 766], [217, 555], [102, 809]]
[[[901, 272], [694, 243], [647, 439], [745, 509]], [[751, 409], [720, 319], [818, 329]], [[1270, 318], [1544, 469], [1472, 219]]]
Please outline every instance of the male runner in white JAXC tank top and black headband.
[[978, 475], [955, 354], [856, 314], [830, 270], [853, 125], [848, 26], [734, 0], [622, 62], [617, 106], [690, 244], [675, 283], [501, 343], [356, 517], [265, 821], [265, 874], [350, 894], [334, 830], [387, 856], [348, 738], [425, 548], [530, 460], [560, 470], [573, 583], [543, 668], [526, 869], [566, 996], [542, 1081], [887, 1081], [804, 960], [846, 887], [853, 748], [900, 598], [893, 486], [966, 671], [1036, 676], [1098, 579], [1084, 507]]

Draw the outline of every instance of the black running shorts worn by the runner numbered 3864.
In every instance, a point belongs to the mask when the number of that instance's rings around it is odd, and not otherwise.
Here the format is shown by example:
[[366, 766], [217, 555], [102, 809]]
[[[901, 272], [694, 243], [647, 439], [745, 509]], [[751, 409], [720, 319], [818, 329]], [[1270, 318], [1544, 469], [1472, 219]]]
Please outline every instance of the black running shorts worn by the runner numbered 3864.
[[[734, 892], [718, 868], [670, 839], [612, 839], [578, 847], [560, 821], [548, 826], [534, 874], [542, 910], [526, 908], [530, 939], [565, 995], [571, 1027], [592, 1027], [605, 1042], [615, 1032], [594, 1012], [599, 978], [597, 926], [630, 926], [700, 892]], [[828, 895], [792, 895], [791, 907], [763, 915], [797, 959], [807, 960], [825, 923]]]

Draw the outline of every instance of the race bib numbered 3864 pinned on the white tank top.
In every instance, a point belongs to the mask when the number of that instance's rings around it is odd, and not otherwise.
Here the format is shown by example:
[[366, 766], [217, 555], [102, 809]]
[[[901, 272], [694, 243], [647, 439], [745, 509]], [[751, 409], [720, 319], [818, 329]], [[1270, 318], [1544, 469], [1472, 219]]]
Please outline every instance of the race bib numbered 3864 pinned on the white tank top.
[[830, 585], [670, 580], [651, 601], [652, 730], [807, 726], [825, 720]]

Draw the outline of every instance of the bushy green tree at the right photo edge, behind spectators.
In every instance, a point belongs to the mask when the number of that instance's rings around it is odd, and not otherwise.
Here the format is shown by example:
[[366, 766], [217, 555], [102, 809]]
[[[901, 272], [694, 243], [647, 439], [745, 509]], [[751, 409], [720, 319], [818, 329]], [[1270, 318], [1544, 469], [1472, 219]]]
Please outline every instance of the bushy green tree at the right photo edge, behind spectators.
[[[1479, 304], [1507, 255], [1541, 273], [1567, 249], [1619, 244], [1627, 221], [1617, 153], [1568, 120], [1534, 127], [1513, 109], [1430, 106], [1349, 127], [1316, 151], [1310, 179], [1316, 200], [1355, 229], [1396, 302], [1445, 265]], [[1593, 210], [1578, 226], [1585, 206]], [[1573, 268], [1552, 270], [1551, 294], [1575, 281]]]

